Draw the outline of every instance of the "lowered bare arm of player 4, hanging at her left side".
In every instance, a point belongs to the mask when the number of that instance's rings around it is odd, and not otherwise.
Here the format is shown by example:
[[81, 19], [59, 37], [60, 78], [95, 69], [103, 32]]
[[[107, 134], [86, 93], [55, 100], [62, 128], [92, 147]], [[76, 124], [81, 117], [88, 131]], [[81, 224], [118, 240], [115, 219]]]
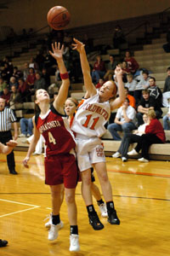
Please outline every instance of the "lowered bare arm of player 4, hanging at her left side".
[[36, 127], [36, 124], [35, 124], [35, 116], [32, 118], [32, 122], [33, 122], [33, 125], [34, 125], [34, 136], [33, 136], [32, 140], [31, 140], [30, 147], [28, 148], [28, 152], [26, 154], [26, 158], [22, 162], [23, 165], [26, 168], [28, 168], [28, 161], [30, 160], [31, 154], [34, 152], [34, 150], [36, 148], [36, 145], [37, 145], [37, 142], [38, 142], [39, 137], [40, 137], [40, 133], [37, 130], [37, 127]]

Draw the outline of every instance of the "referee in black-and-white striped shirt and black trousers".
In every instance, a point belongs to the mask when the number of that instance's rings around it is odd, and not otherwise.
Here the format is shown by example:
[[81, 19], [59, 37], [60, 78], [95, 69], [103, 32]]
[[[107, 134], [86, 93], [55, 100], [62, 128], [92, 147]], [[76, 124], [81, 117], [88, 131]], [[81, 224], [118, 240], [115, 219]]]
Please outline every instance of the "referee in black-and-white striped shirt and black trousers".
[[[8, 143], [13, 139], [11, 133], [11, 122], [14, 123], [14, 140], [18, 137], [18, 127], [14, 112], [10, 108], [5, 108], [5, 100], [0, 98], [0, 143]], [[18, 174], [15, 171], [14, 151], [7, 155], [8, 170], [11, 174]]]

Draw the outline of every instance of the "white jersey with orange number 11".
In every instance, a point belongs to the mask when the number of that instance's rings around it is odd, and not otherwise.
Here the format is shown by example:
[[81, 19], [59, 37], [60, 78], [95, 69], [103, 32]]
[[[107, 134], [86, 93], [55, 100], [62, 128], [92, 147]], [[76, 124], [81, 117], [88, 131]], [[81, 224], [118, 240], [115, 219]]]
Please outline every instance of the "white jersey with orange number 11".
[[77, 109], [71, 130], [87, 137], [102, 137], [111, 115], [109, 102], [99, 102], [99, 92], [85, 99]]

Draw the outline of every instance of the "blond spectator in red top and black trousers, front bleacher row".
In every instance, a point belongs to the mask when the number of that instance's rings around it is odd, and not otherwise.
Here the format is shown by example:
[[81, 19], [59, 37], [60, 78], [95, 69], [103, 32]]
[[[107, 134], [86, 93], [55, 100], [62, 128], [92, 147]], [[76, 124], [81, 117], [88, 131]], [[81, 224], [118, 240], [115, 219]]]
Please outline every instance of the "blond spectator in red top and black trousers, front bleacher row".
[[156, 113], [154, 110], [150, 109], [148, 111], [148, 119], [149, 119], [149, 125], [146, 125], [145, 127], [145, 134], [143, 134], [135, 148], [133, 148], [132, 151], [128, 152], [128, 155], [135, 155], [139, 154], [139, 151], [141, 152], [141, 158], [139, 158], [140, 162], [147, 163], [149, 162], [149, 148], [152, 144], [161, 144], [165, 143], [165, 132], [163, 130], [163, 127], [161, 125], [161, 122], [156, 119]]

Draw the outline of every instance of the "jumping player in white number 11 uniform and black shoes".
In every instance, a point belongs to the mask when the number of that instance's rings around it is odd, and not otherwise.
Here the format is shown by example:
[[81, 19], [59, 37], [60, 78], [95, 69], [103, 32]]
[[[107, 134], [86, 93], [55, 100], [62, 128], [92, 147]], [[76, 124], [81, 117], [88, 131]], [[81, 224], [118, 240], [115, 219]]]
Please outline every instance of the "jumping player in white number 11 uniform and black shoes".
[[106, 171], [104, 148], [99, 137], [105, 133], [105, 123], [109, 120], [111, 111], [119, 108], [125, 100], [122, 69], [116, 67], [115, 70], [119, 94], [117, 98], [116, 84], [112, 80], [105, 82], [98, 92], [92, 83], [90, 67], [84, 49], [85, 45], [75, 38], [74, 42], [75, 44], [72, 44], [73, 49], [77, 49], [80, 54], [84, 84], [89, 97], [78, 108], [71, 129], [77, 133], [77, 160], [82, 173], [82, 196], [87, 206], [89, 223], [94, 230], [102, 230], [104, 225], [99, 221], [92, 201], [90, 168], [94, 166], [98, 174], [106, 201], [108, 222], [120, 224], [112, 200], [112, 189]]

